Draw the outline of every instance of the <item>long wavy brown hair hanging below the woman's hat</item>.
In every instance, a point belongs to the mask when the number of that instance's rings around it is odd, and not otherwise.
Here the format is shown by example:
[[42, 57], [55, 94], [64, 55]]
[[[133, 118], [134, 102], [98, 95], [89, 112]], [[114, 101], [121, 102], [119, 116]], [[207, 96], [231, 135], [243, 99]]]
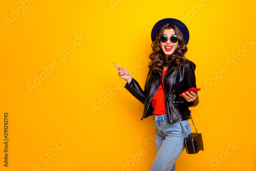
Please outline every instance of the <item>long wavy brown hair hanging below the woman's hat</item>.
[[[176, 35], [179, 38], [179, 44], [176, 51], [168, 57], [165, 57], [159, 40], [159, 37], [163, 35], [165, 29], [174, 29]], [[150, 68], [150, 72], [157, 73], [158, 71], [163, 71], [164, 66], [167, 66], [168, 68], [170, 66], [174, 66], [174, 68], [180, 68], [180, 66], [182, 66], [186, 60], [184, 55], [187, 52], [187, 46], [184, 44], [184, 40], [185, 38], [183, 34], [175, 25], [166, 24], [161, 29], [159, 29], [156, 34], [156, 40], [151, 44], [153, 52], [150, 54], [150, 59], [152, 62], [150, 62], [150, 65], [148, 66], [148, 68]]]

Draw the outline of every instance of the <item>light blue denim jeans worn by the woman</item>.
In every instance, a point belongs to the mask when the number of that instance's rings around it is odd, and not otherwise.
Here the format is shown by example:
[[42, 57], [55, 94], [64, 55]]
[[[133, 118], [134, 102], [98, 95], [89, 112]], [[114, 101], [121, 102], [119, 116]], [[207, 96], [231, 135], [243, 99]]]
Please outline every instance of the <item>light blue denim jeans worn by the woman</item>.
[[[175, 171], [175, 162], [183, 152], [186, 137], [179, 122], [168, 123], [167, 115], [153, 115], [157, 156], [150, 171]], [[191, 133], [188, 120], [181, 121], [187, 134]]]

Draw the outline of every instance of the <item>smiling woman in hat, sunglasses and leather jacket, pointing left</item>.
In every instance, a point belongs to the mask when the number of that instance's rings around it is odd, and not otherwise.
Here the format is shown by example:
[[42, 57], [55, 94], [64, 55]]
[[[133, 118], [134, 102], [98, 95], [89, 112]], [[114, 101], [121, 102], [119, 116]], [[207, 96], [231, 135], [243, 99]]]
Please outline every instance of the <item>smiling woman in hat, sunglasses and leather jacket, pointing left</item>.
[[175, 162], [184, 149], [185, 134], [179, 119], [186, 133], [190, 134], [188, 107], [194, 107], [199, 102], [197, 93], [179, 95], [189, 88], [196, 88], [196, 65], [184, 57], [189, 32], [180, 20], [160, 20], [153, 27], [151, 38], [152, 62], [148, 66], [150, 71], [144, 91], [125, 68], [114, 65], [118, 68], [119, 77], [127, 81], [125, 88], [144, 104], [141, 120], [153, 115], [157, 156], [150, 170], [174, 171]]

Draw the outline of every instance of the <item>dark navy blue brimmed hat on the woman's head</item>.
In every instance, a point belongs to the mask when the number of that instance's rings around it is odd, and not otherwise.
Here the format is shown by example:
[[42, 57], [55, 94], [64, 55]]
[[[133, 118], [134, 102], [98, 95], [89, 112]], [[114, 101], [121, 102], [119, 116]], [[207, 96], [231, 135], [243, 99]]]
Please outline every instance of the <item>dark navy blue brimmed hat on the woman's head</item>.
[[164, 19], [161, 19], [159, 22], [157, 22], [151, 31], [152, 41], [156, 40], [157, 31], [161, 29], [165, 24], [171, 24], [171, 25], [177, 26], [180, 29], [181, 33], [184, 35], [185, 37], [184, 43], [185, 45], [187, 45], [189, 40], [188, 29], [184, 23], [182, 23], [180, 20], [175, 18], [164, 18]]

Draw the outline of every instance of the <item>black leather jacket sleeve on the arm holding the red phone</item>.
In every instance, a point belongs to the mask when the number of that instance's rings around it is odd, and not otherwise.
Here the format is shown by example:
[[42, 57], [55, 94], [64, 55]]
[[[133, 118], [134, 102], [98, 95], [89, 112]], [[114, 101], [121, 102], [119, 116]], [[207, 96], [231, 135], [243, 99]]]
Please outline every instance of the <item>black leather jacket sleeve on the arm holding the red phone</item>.
[[[186, 66], [186, 70], [185, 70], [185, 75], [186, 75], [186, 86], [188, 88], [196, 88], [197, 85], [196, 85], [196, 75], [195, 75], [195, 70], [196, 70], [196, 65], [195, 63], [193, 62], [189, 62], [188, 63], [188, 66]], [[191, 102], [188, 102], [185, 100], [185, 104], [188, 106], [188, 107], [195, 107], [197, 104], [199, 103], [199, 98], [197, 96], [196, 100], [194, 101], [191, 101]]]

